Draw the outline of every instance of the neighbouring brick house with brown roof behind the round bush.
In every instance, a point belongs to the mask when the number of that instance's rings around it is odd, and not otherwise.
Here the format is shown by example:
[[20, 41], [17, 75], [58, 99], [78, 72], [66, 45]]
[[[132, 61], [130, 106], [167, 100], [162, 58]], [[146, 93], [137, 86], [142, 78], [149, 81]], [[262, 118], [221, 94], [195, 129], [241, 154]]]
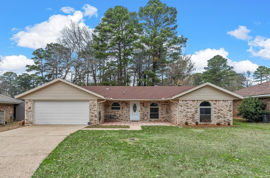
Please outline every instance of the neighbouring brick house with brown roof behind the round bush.
[[[234, 93], [241, 95], [244, 98], [249, 96], [259, 98], [266, 105], [265, 109], [270, 111], [270, 81], [243, 88], [241, 90], [234, 91]], [[238, 117], [237, 108], [241, 101], [242, 100], [237, 99], [233, 101], [233, 117]]]

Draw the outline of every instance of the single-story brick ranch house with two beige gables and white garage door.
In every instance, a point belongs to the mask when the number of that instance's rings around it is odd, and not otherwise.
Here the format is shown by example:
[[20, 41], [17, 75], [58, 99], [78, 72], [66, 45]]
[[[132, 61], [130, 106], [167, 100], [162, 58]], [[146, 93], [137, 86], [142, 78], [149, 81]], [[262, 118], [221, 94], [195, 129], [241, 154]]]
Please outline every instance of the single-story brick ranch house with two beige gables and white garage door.
[[232, 124], [232, 102], [242, 96], [204, 83], [200, 86], [85, 86], [55, 79], [17, 95], [25, 99], [25, 124], [99, 124], [168, 121], [176, 125]]

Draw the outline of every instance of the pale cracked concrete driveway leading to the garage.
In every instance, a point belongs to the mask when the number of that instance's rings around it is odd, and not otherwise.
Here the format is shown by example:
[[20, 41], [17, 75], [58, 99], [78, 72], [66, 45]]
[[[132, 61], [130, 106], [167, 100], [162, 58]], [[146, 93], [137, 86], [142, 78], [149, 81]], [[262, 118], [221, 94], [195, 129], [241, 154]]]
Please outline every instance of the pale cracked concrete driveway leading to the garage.
[[0, 132], [1, 177], [31, 177], [70, 133], [86, 125], [33, 125]]

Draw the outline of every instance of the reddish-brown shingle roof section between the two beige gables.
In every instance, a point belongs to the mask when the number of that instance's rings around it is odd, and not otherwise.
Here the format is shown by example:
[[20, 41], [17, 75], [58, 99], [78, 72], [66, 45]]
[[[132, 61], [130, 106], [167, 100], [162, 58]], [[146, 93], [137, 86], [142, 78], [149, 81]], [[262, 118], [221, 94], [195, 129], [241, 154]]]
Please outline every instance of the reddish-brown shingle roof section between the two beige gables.
[[[190, 90], [191, 86], [84, 86], [83, 88], [113, 99], [163, 99]], [[109, 90], [106, 90], [109, 88]], [[125, 94], [123, 94], [125, 92]]]

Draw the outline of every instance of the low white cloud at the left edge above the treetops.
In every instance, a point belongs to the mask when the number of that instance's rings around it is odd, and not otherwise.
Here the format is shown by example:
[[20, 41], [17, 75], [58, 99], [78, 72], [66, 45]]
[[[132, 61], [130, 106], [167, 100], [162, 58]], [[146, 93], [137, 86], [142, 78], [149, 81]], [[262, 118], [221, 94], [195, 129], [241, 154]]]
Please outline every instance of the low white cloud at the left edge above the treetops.
[[[13, 56], [1, 56], [1, 70], [2, 74], [5, 72], [15, 72], [16, 74], [27, 73], [26, 65], [33, 65], [34, 61], [32, 59], [26, 58], [24, 55], [13, 55]], [[30, 73], [29, 73], [30, 74]]]

